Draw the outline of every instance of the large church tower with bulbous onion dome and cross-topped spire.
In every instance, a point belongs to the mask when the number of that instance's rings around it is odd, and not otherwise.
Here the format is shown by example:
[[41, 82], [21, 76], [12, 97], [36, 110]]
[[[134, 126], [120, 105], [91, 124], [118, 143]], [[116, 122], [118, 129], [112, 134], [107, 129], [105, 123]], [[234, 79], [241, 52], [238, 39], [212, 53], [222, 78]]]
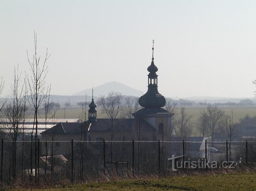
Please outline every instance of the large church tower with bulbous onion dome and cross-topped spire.
[[[152, 48], [152, 61], [151, 65], [148, 66], [148, 89], [147, 92], [142, 95], [139, 99], [139, 104], [143, 107], [132, 115], [134, 118], [142, 118], [155, 127], [158, 139], [165, 137], [165, 140], [170, 140], [173, 134], [172, 128], [172, 116], [166, 109], [162, 108], [166, 105], [166, 99], [163, 95], [158, 92], [158, 75], [156, 72], [158, 68], [154, 63], [154, 43]], [[164, 134], [164, 135], [163, 135]], [[162, 140], [162, 139], [161, 139]]]

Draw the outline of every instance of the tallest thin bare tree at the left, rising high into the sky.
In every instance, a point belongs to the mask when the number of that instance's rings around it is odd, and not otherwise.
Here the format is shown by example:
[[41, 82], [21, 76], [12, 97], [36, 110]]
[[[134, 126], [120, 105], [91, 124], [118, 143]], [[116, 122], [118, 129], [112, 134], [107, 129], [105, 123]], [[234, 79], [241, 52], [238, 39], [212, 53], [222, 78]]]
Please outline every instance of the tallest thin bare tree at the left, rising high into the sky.
[[[37, 156], [37, 134], [38, 134], [38, 111], [39, 107], [45, 99], [47, 92], [45, 88], [45, 78], [48, 72], [48, 66], [46, 66], [46, 61], [51, 54], [48, 54], [48, 49], [46, 49], [46, 54], [41, 62], [41, 56], [37, 52], [37, 34], [34, 32], [34, 54], [30, 60], [28, 51], [27, 58], [30, 66], [31, 75], [26, 75], [27, 87], [29, 91], [29, 105], [34, 111], [34, 122], [32, 134], [35, 127], [35, 156]], [[32, 139], [32, 136], [31, 136]], [[32, 140], [31, 140], [32, 141]], [[31, 144], [32, 145], [32, 144]], [[35, 176], [37, 177], [37, 158], [35, 157]]]

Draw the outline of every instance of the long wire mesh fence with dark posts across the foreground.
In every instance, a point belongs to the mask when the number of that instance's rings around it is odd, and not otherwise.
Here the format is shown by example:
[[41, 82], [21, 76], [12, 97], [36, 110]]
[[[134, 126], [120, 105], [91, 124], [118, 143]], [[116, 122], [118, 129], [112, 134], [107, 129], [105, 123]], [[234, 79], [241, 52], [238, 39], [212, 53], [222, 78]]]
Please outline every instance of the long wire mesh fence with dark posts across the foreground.
[[[173, 156], [177, 157], [174, 166], [170, 159]], [[192, 161], [201, 162], [202, 166], [191, 166]], [[256, 163], [256, 142], [2, 139], [1, 182], [51, 181], [58, 184], [61, 181], [95, 180], [102, 176], [166, 175], [178, 168], [207, 170], [206, 163], [213, 161], [217, 168], [223, 168], [223, 162], [232, 163], [235, 168], [252, 166]]]

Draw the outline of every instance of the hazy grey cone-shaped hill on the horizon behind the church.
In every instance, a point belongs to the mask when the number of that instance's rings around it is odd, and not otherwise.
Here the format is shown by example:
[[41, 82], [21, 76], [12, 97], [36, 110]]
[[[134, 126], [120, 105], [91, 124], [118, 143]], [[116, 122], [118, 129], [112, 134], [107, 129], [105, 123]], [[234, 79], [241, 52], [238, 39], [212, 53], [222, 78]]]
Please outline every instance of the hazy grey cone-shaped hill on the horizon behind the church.
[[[121, 92], [123, 95], [134, 95], [134, 96], [141, 96], [143, 95], [143, 91], [131, 88], [125, 84], [121, 84], [119, 82], [108, 82], [105, 84], [102, 84], [100, 86], [93, 87], [93, 93], [95, 96], [99, 95], [107, 95], [110, 91], [115, 92]], [[78, 93], [75, 93], [73, 95], [91, 95], [91, 88], [82, 90]]]

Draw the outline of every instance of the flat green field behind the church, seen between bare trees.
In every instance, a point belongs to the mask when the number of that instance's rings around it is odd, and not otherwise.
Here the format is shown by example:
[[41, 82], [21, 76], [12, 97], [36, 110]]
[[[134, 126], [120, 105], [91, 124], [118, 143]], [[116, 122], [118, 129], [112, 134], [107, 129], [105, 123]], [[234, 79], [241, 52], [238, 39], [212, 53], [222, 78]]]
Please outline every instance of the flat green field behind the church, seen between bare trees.
[[[256, 116], [256, 107], [220, 107], [226, 113], [226, 115], [231, 115], [231, 110], [233, 109], [233, 117], [235, 121], [239, 121], [239, 119], [245, 117], [246, 115], [249, 116]], [[102, 114], [101, 109], [97, 108], [97, 118], [107, 118], [106, 115]], [[187, 114], [191, 115], [192, 118], [190, 120], [191, 125], [193, 126], [193, 135], [197, 136], [198, 132], [196, 129], [197, 119], [200, 116], [200, 111], [205, 109], [205, 107], [186, 107]], [[65, 109], [65, 118], [79, 118], [80, 112], [82, 109], [80, 108], [67, 108]], [[174, 115], [175, 118], [179, 117], [180, 110], [177, 109], [176, 114]], [[42, 117], [44, 117], [42, 115]], [[57, 111], [55, 118], [64, 118], [64, 109], [59, 108]]]

